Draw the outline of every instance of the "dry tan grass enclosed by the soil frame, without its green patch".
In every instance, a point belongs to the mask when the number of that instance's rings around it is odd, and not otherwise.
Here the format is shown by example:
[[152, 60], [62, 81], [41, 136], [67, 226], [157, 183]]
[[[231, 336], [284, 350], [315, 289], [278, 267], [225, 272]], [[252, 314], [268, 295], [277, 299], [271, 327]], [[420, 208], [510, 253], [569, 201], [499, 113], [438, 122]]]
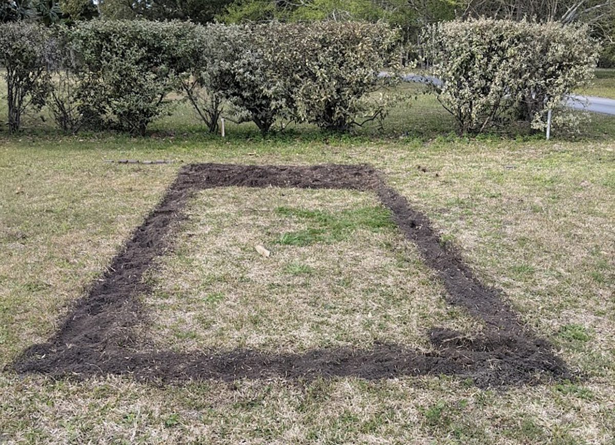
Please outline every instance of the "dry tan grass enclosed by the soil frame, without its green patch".
[[[183, 351], [280, 354], [394, 342], [430, 349], [432, 327], [480, 330], [478, 320], [445, 304], [442, 284], [394, 226], [288, 246], [280, 244], [285, 233], [318, 229], [309, 219], [280, 215], [279, 207], [339, 217], [379, 203], [371, 194], [331, 190], [201, 193], [175, 252], [151, 274], [156, 286], [145, 300], [157, 348], [170, 342]], [[261, 257], [257, 244], [271, 257]]]

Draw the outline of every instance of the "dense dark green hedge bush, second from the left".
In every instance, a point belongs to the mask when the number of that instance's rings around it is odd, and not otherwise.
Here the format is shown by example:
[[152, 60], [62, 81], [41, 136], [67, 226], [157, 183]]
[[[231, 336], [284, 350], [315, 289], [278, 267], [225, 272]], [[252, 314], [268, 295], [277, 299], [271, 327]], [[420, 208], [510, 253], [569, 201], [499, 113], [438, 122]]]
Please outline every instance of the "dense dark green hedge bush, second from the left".
[[[169, 109], [167, 95], [191, 68], [197, 25], [180, 21], [92, 20], [66, 29], [82, 79], [82, 114], [145, 134]], [[98, 119], [96, 119], [98, 118]]]

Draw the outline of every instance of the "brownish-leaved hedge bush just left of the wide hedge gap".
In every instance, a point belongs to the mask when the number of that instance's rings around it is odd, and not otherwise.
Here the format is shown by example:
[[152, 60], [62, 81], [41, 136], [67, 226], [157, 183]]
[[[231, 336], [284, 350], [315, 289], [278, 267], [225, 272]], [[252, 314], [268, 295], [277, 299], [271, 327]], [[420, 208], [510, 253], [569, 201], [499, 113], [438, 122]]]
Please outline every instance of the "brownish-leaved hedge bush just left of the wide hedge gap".
[[276, 56], [284, 55], [286, 69], [282, 74], [296, 81], [290, 101], [297, 120], [348, 130], [361, 125], [360, 118], [384, 116], [383, 104], [365, 97], [383, 84], [380, 71], [399, 71], [399, 33], [385, 23], [333, 21], [273, 29], [263, 31], [279, 42]]

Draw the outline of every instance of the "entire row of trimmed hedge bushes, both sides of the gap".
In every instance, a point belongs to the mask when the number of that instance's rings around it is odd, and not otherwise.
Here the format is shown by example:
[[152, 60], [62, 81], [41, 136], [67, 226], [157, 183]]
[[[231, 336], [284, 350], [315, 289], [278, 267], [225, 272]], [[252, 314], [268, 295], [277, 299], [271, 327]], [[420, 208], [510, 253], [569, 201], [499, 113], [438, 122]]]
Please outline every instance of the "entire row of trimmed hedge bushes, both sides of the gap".
[[[598, 47], [583, 26], [504, 20], [438, 23], [421, 52], [433, 90], [461, 133], [518, 120], [544, 126], [547, 110], [593, 73]], [[0, 25], [9, 131], [47, 106], [67, 133], [117, 128], [145, 134], [180, 92], [210, 131], [224, 113], [263, 133], [274, 122], [329, 130], [382, 118], [370, 95], [395, 76], [400, 39], [384, 23], [208, 25], [103, 21], [71, 28]], [[226, 107], [226, 109], [223, 109]]]

